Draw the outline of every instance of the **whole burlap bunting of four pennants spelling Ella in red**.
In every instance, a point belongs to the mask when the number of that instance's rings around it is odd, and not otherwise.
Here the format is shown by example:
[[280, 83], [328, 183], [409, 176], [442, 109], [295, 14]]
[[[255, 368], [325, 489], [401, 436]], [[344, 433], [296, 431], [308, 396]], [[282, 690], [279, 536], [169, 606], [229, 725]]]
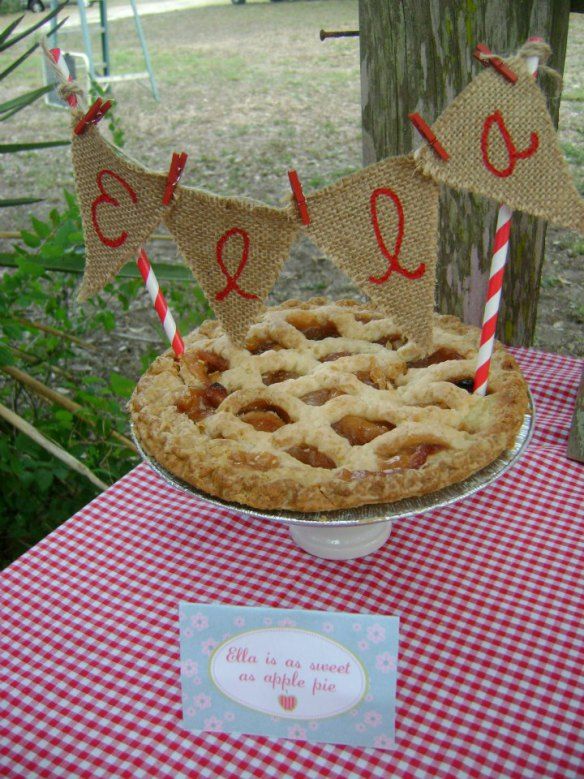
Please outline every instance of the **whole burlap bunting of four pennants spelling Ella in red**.
[[[307, 233], [396, 326], [431, 348], [439, 183], [584, 232], [579, 196], [544, 96], [521, 57], [515, 83], [486, 68], [432, 127], [449, 158], [424, 144], [306, 198]], [[77, 117], [78, 118], [78, 117]], [[73, 136], [86, 240], [80, 299], [103, 289], [164, 220], [225, 332], [242, 343], [300, 229], [295, 207], [270, 208], [178, 187], [88, 126]]]

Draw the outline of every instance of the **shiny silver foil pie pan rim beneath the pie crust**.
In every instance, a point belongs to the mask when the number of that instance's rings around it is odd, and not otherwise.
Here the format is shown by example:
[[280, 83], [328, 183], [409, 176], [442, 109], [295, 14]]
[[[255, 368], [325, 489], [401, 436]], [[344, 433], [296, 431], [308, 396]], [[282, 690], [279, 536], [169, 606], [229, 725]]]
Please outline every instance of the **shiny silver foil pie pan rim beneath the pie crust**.
[[482, 468], [472, 476], [469, 476], [468, 479], [456, 484], [451, 484], [448, 487], [428, 493], [427, 495], [405, 498], [404, 500], [396, 501], [395, 503], [372, 503], [365, 506], [355, 506], [353, 508], [323, 511], [320, 513], [284, 511], [283, 509], [255, 509], [251, 506], [244, 506], [241, 503], [231, 503], [226, 500], [221, 500], [221, 498], [217, 498], [214, 495], [208, 495], [206, 492], [198, 490], [196, 487], [193, 487], [191, 484], [188, 484], [167, 471], [166, 468], [144, 451], [132, 424], [130, 425], [130, 429], [132, 438], [145, 462], [168, 482], [168, 484], [171, 484], [173, 487], [176, 487], [189, 495], [200, 498], [214, 506], [221, 506], [230, 511], [236, 511], [239, 514], [246, 514], [261, 519], [271, 519], [275, 522], [283, 522], [288, 525], [322, 526], [323, 524], [327, 524], [331, 527], [349, 527], [352, 525], [370, 525], [375, 522], [387, 522], [388, 520], [401, 519], [403, 517], [412, 516], [413, 514], [422, 514], [425, 511], [432, 511], [441, 506], [457, 503], [459, 500], [463, 500], [464, 498], [469, 497], [469, 495], [473, 495], [475, 492], [492, 484], [492, 482], [502, 476], [517, 462], [531, 440], [535, 428], [535, 406], [531, 393], [529, 393], [529, 404], [528, 412], [525, 414], [523, 424], [517, 434], [513, 447], [507, 449], [485, 468]]

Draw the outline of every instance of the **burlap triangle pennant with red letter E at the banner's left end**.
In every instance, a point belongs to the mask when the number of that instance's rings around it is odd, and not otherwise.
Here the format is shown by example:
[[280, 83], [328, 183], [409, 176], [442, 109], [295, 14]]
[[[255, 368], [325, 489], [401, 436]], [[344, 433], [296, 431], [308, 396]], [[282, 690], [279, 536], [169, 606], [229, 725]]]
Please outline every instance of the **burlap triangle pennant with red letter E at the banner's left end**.
[[71, 150], [86, 250], [79, 299], [86, 300], [138, 256], [160, 223], [166, 176], [123, 156], [92, 126], [73, 135]]

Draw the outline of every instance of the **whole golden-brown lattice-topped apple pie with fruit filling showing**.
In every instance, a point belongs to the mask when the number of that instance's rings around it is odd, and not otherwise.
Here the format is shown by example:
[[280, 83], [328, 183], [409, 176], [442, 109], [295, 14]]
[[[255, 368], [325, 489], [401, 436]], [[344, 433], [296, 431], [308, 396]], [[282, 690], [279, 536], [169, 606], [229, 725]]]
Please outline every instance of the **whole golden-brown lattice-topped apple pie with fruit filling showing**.
[[[354, 301], [288, 301], [234, 346], [216, 322], [158, 357], [130, 402], [145, 451], [204, 492], [265, 509], [324, 511], [463, 480], [515, 440], [528, 405], [496, 345], [471, 394], [479, 331], [435, 316], [420, 359], [391, 319]], [[470, 391], [469, 391], [470, 390]]]

